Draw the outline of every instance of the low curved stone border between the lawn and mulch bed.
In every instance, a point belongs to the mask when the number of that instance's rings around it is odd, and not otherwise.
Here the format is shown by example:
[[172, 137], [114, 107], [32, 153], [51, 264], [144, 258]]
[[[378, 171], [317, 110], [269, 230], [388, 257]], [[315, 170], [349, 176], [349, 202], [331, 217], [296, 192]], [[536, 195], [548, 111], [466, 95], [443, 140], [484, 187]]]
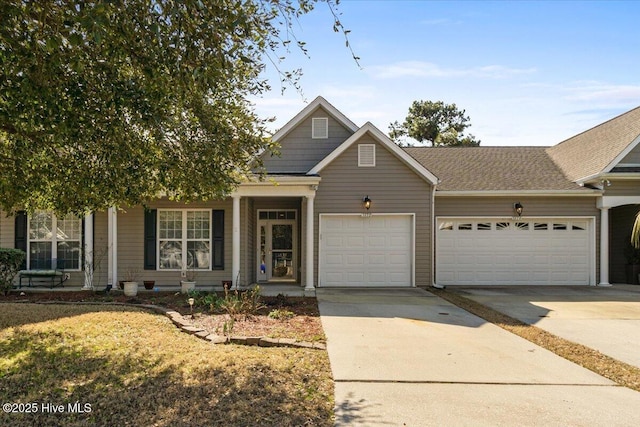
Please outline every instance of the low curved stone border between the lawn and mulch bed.
[[243, 336], [231, 336], [229, 339], [225, 336], [210, 334], [208, 331], [202, 328], [193, 326], [191, 322], [186, 319], [182, 314], [175, 310], [171, 310], [165, 307], [160, 307], [152, 304], [132, 304], [126, 302], [98, 302], [98, 301], [30, 301], [30, 300], [17, 300], [17, 301], [2, 301], [3, 303], [22, 303], [22, 304], [66, 304], [66, 305], [115, 305], [124, 307], [137, 307], [146, 310], [154, 311], [158, 314], [164, 314], [171, 320], [171, 322], [182, 332], [190, 335], [194, 335], [200, 339], [211, 342], [212, 344], [241, 344], [241, 345], [257, 345], [259, 347], [295, 347], [295, 348], [310, 348], [314, 350], [326, 350], [327, 345], [319, 342], [310, 341], [297, 341], [292, 338], [268, 338], [268, 337], [243, 337]]

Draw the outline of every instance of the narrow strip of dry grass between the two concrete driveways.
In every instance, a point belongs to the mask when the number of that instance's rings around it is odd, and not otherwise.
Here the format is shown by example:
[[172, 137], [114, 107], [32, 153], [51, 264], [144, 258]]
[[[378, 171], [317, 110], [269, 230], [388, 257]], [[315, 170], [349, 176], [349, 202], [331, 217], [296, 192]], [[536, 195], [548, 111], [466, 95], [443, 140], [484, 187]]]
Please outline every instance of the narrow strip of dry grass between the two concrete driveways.
[[536, 326], [521, 322], [455, 292], [437, 289], [431, 289], [430, 292], [598, 375], [602, 375], [622, 386], [640, 391], [640, 368], [620, 362], [582, 344], [560, 338]]

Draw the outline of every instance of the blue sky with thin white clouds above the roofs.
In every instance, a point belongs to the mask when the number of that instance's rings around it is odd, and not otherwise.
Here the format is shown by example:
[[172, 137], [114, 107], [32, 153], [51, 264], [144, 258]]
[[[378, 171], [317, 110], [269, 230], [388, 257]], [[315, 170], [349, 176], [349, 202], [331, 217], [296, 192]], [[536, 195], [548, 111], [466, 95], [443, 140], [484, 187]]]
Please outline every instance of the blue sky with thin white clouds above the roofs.
[[490, 145], [554, 145], [640, 106], [640, 1], [343, 0], [350, 43], [324, 4], [300, 18], [283, 69], [301, 67], [303, 95], [253, 101], [284, 125], [317, 95], [358, 125], [387, 133], [414, 100], [455, 103]]

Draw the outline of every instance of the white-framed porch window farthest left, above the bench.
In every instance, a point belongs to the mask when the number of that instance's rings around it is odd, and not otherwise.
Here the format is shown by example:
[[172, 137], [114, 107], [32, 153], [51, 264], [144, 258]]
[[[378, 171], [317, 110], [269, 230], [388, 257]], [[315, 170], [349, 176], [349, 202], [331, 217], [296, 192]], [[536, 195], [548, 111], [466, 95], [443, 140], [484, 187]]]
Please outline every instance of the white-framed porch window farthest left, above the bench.
[[82, 220], [78, 217], [57, 218], [51, 212], [36, 211], [29, 219], [29, 268], [79, 270], [81, 242]]

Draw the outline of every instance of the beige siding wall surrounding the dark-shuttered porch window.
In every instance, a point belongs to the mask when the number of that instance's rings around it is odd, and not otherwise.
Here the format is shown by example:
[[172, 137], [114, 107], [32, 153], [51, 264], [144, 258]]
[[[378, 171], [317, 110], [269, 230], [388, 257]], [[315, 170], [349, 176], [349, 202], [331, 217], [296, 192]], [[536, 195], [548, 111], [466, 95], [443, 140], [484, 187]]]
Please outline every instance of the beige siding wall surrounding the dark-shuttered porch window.
[[[222, 280], [231, 280], [232, 201], [197, 202], [181, 204], [170, 200], [158, 200], [149, 204], [150, 209], [222, 209], [224, 213], [224, 270], [198, 271], [198, 288], [220, 286]], [[243, 218], [241, 203], [240, 218]], [[242, 238], [241, 238], [242, 240]], [[156, 242], [157, 246], [157, 242]], [[240, 254], [242, 259], [242, 253]], [[118, 274], [122, 280], [128, 269], [140, 272], [139, 280], [155, 280], [157, 286], [179, 286], [180, 271], [144, 270], [144, 209], [141, 206], [118, 212]]]

